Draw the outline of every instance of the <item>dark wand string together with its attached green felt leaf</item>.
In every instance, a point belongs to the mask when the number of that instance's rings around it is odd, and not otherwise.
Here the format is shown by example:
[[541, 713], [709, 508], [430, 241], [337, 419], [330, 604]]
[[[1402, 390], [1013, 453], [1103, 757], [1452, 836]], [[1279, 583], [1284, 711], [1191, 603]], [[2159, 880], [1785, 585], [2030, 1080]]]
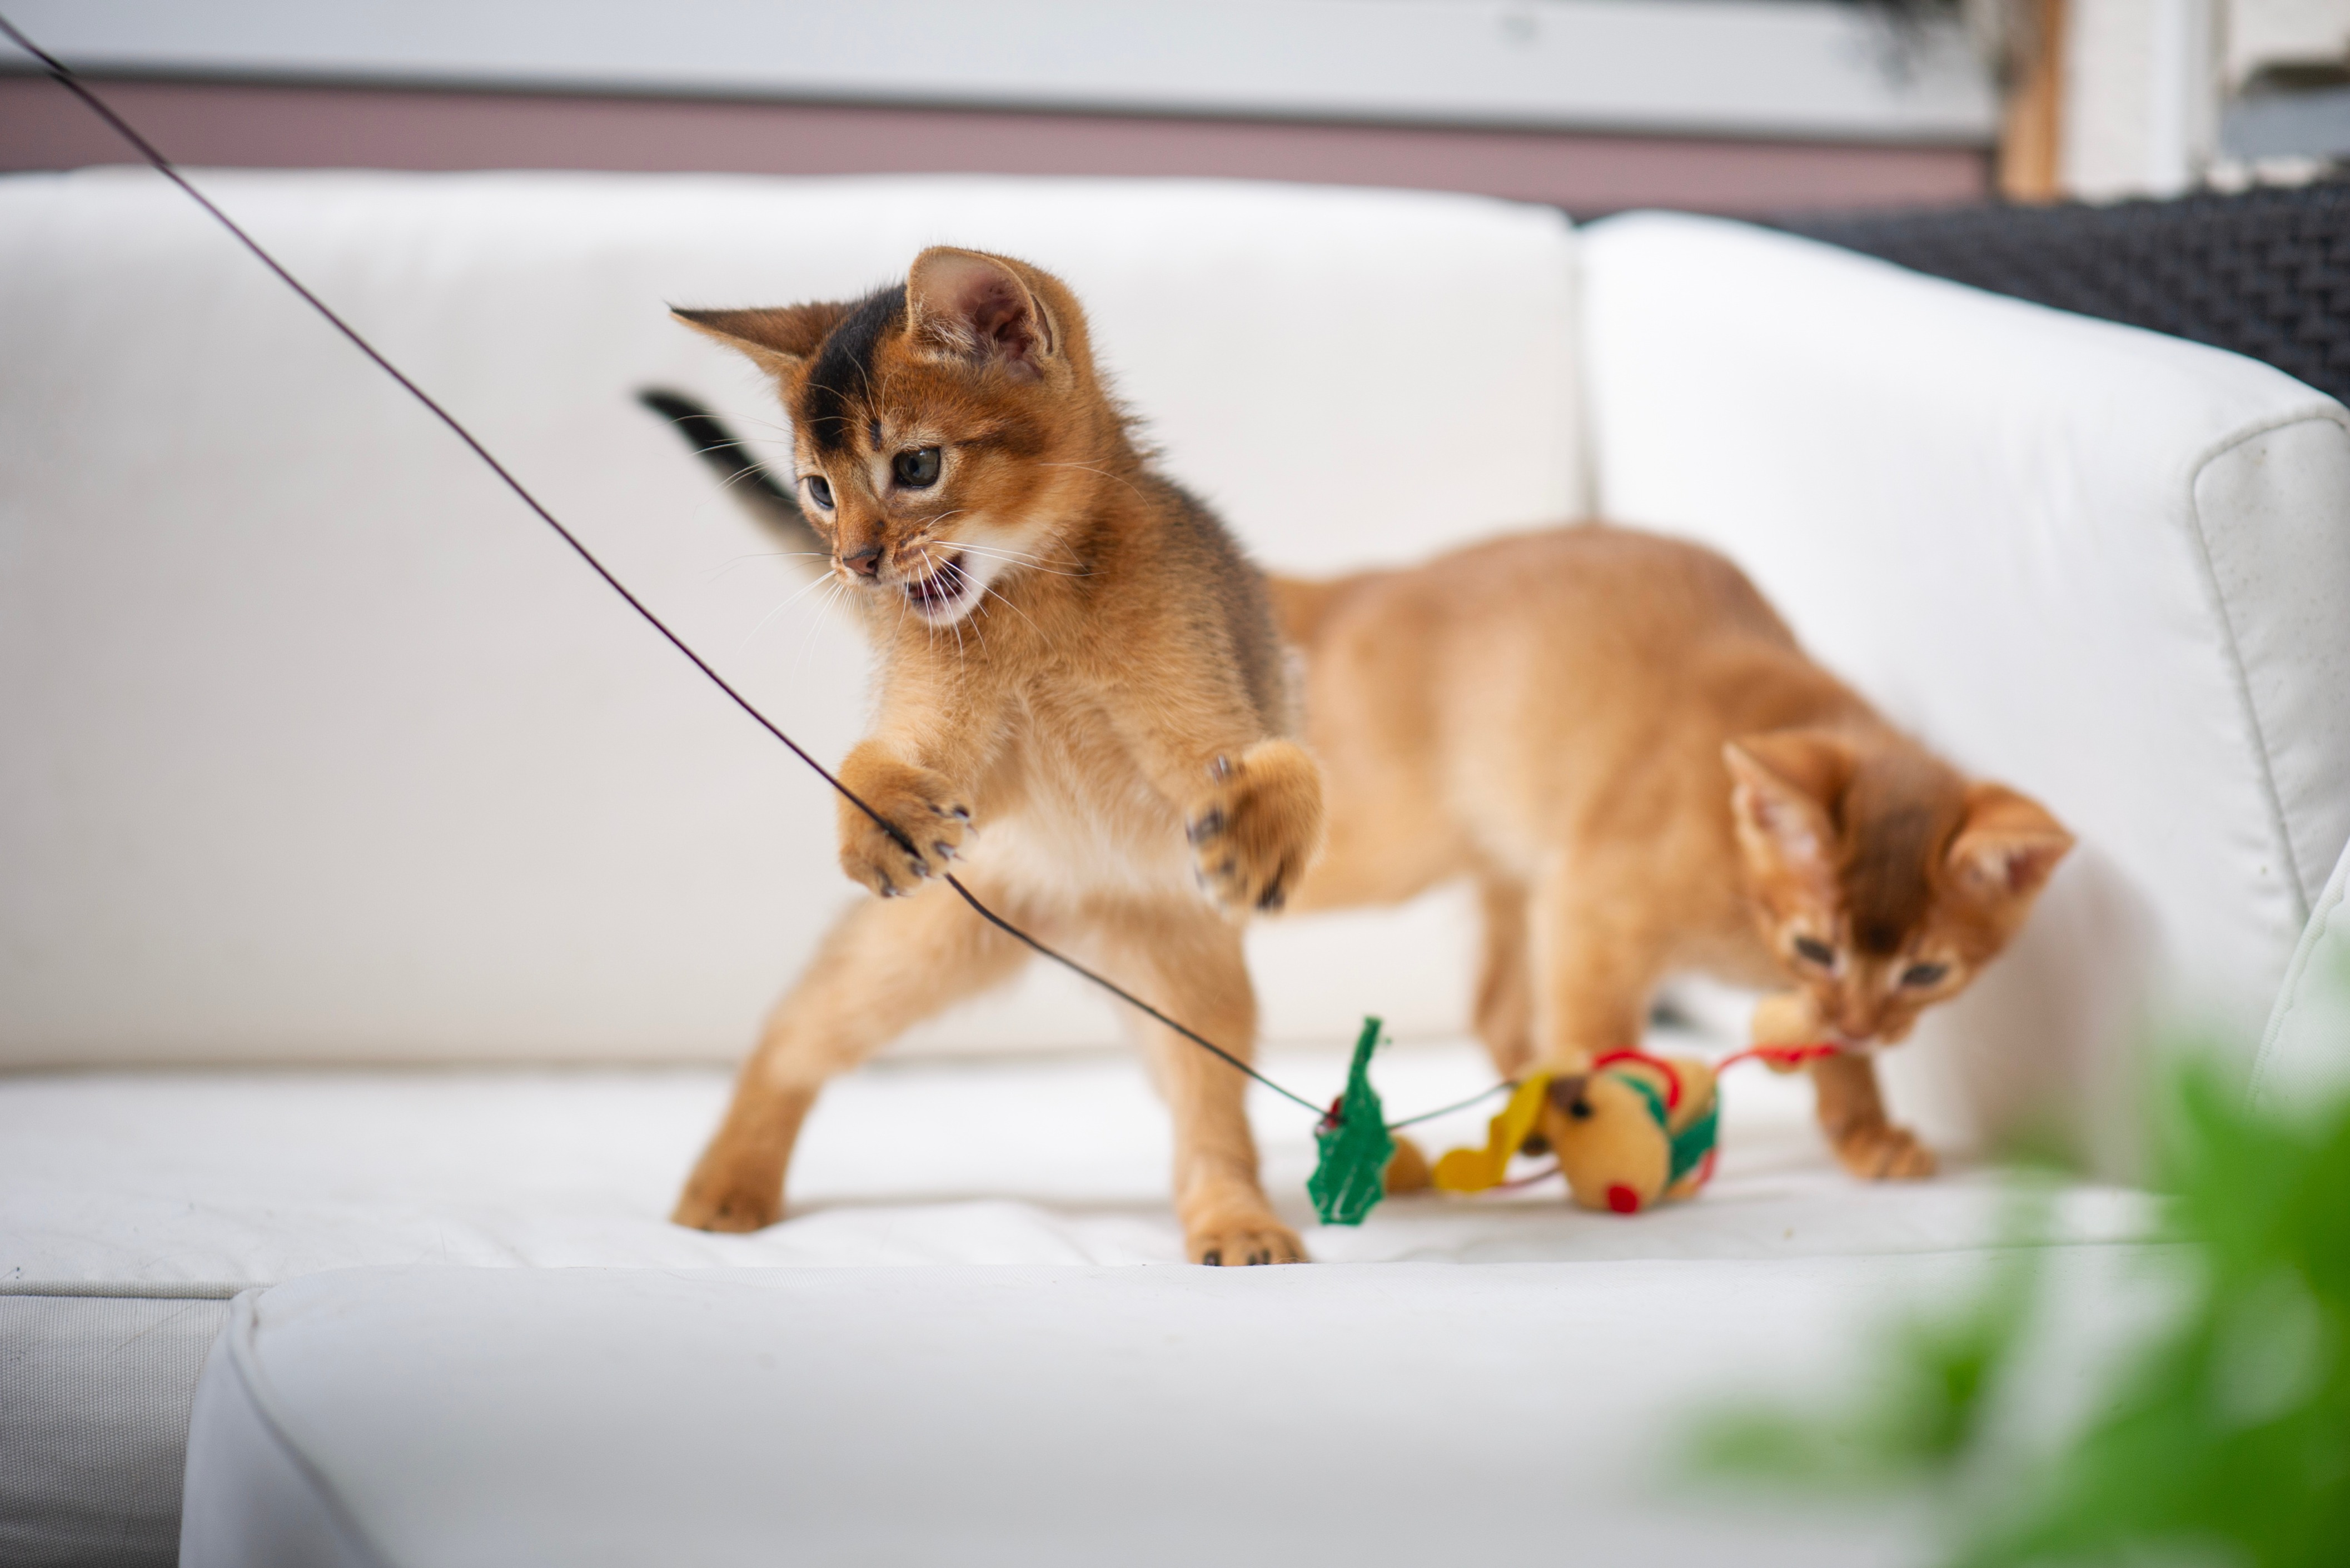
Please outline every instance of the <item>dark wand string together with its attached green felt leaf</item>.
[[[677, 632], [672, 632], [660, 621], [660, 616], [656, 616], [644, 604], [644, 599], [639, 599], [634, 592], [630, 592], [627, 585], [620, 578], [616, 578], [611, 574], [611, 569], [604, 567], [604, 562], [597, 559], [595, 552], [585, 543], [580, 543], [580, 538], [555, 517], [555, 512], [550, 512], [545, 505], [540, 505], [538, 496], [533, 496], [529, 489], [524, 489], [522, 480], [517, 480], [505, 468], [505, 463], [501, 463], [496, 456], [491, 456], [489, 447], [484, 447], [472, 435], [472, 430], [468, 430], [463, 423], [458, 423], [458, 418], [454, 414], [449, 414], [449, 409], [444, 409], [439, 402], [435, 402], [430, 393], [425, 393], [421, 386], [416, 386], [414, 381], [409, 381], [409, 376], [397, 364], [392, 364], [390, 360], [385, 360], [383, 353], [378, 353], [374, 343], [369, 343], [364, 336], [360, 336], [360, 331], [350, 322], [345, 322], [341, 315], [336, 315], [327, 306], [327, 301], [322, 301], [317, 294], [313, 294], [308, 287], [303, 287], [303, 282], [298, 277], [294, 277], [294, 273], [289, 273], [275, 256], [270, 256], [270, 252], [263, 249], [258, 240], [254, 240], [249, 233], [244, 233], [235, 223], [235, 219], [230, 219], [202, 190], [197, 190], [188, 181], [188, 176], [183, 176], [179, 172], [179, 167], [169, 158], [164, 158], [160, 150], [155, 150], [155, 143], [150, 143], [146, 136], [141, 136], [96, 92], [92, 92], [73, 73], [70, 66], [66, 66], [54, 54], [49, 54], [47, 49], [42, 49], [40, 45], [35, 45], [31, 38], [26, 38], [16, 28], [16, 24], [12, 24], [7, 16], [0, 16], [0, 33], [5, 33], [9, 38], [9, 42], [14, 42], [19, 49], [24, 49], [35, 61], [40, 61], [40, 66], [42, 66], [42, 71], [47, 71], [49, 80], [54, 80], [59, 87], [63, 87], [75, 99], [80, 99], [94, 115], [99, 115], [99, 120], [103, 120], [118, 136], [122, 136], [122, 141], [127, 141], [157, 174], [162, 174], [167, 181], [172, 181], [174, 186], [179, 186], [181, 193], [188, 195], [188, 200], [193, 200], [197, 207], [202, 207], [207, 214], [212, 214], [212, 219], [221, 228], [226, 228], [237, 240], [237, 244], [242, 244], [247, 252], [251, 252], [254, 259], [261, 266], [266, 266], [270, 273], [277, 275], [280, 282], [284, 282], [289, 289], [294, 289], [294, 294], [298, 294], [303, 299], [303, 303], [308, 303], [313, 310], [317, 310], [327, 320], [329, 327], [334, 327], [338, 334], [343, 334], [350, 341], [352, 348], [357, 348], [362, 355], [367, 355], [369, 360], [374, 360], [374, 364], [385, 376], [390, 376], [392, 381], [397, 381], [409, 393], [409, 397], [414, 397], [416, 402], [421, 402], [439, 423], [444, 423], [449, 428], [451, 435], [456, 435], [461, 442], [465, 442], [465, 447], [477, 458], [482, 458], [482, 463], [494, 475], [498, 475], [498, 480], [510, 491], [515, 491], [515, 496], [522, 501], [522, 505], [531, 508], [531, 512], [543, 524], [548, 524], [550, 529], [555, 529], [557, 538], [562, 538], [566, 545], [571, 545], [571, 552], [578, 555], [588, 564], [590, 571], [595, 571], [599, 578], [604, 578], [606, 588], [611, 588], [616, 595], [620, 595], [620, 599], [632, 611], [637, 611], [637, 616], [642, 616], [646, 625], [651, 625], [656, 632], [660, 632], [670, 642], [672, 649], [677, 649], [679, 654], [684, 654], [686, 661], [696, 670], [700, 670], [710, 679], [712, 686], [717, 686], [728, 698], [733, 698], [733, 705], [740, 708], [743, 712], [747, 712], [752, 717], [752, 722], [759, 724], [759, 729], [764, 729], [766, 733], [776, 736], [776, 741], [783, 741], [783, 745], [794, 757], [799, 757], [811, 769], [815, 769], [818, 778], [822, 778], [827, 785], [832, 785], [841, 795], [841, 799], [846, 799], [851, 806], [855, 806], [858, 811], [862, 811], [865, 816], [870, 816], [874, 820], [874, 825], [881, 827], [881, 832], [886, 832], [891, 839], [898, 842], [900, 849], [905, 849], [909, 856], [919, 858], [919, 853], [914, 851], [914, 844], [905, 837], [905, 832], [898, 830], [895, 823], [891, 823], [879, 811], [874, 811], [870, 804], [865, 804], [848, 785], [844, 785], [832, 773], [832, 769], [827, 769], [822, 762], [818, 762], [815, 757], [811, 757], [797, 741], [792, 741], [792, 736], [783, 733], [783, 729], [773, 719], [768, 719], [764, 712], [759, 712], [750, 703], [750, 698], [745, 698], [740, 691], [736, 691], [726, 682], [726, 677], [719, 675], [700, 654], [696, 654], [686, 644], [684, 637], [679, 637]], [[663, 411], [667, 411], [667, 409], [663, 409]], [[672, 418], [674, 418], [674, 414], [672, 414]], [[1316, 1164], [1314, 1164], [1314, 1175], [1307, 1180], [1307, 1192], [1314, 1199], [1316, 1215], [1321, 1215], [1321, 1220], [1325, 1225], [1361, 1225], [1363, 1218], [1379, 1204], [1379, 1199], [1384, 1197], [1382, 1178], [1384, 1178], [1384, 1171], [1386, 1171], [1386, 1159], [1394, 1152], [1394, 1138], [1389, 1138], [1389, 1133], [1394, 1128], [1410, 1126], [1415, 1121], [1429, 1121], [1434, 1117], [1443, 1117], [1448, 1112], [1464, 1110], [1464, 1107], [1476, 1105], [1476, 1103], [1480, 1103], [1480, 1100], [1485, 1100], [1485, 1098], [1490, 1098], [1495, 1093], [1513, 1088], [1513, 1084], [1495, 1084], [1492, 1088], [1488, 1088], [1483, 1093], [1476, 1093], [1476, 1095], [1471, 1095], [1466, 1100], [1459, 1100], [1455, 1105], [1441, 1105], [1438, 1110], [1422, 1112], [1417, 1117], [1405, 1117], [1403, 1121], [1384, 1121], [1384, 1107], [1379, 1105], [1377, 1091], [1370, 1086], [1370, 1056], [1379, 1046], [1379, 1020], [1377, 1018], [1365, 1018], [1363, 1020], [1363, 1032], [1356, 1039], [1354, 1058], [1351, 1058], [1349, 1070], [1347, 1070], [1347, 1088], [1344, 1088], [1344, 1093], [1337, 1095], [1337, 1100], [1330, 1103], [1328, 1110], [1323, 1110], [1314, 1100], [1309, 1100], [1309, 1098], [1304, 1098], [1304, 1095], [1300, 1095], [1300, 1093], [1295, 1093], [1290, 1088], [1283, 1088], [1274, 1079], [1264, 1077], [1253, 1065], [1248, 1065], [1243, 1058], [1234, 1056], [1231, 1051], [1227, 1051], [1224, 1046], [1215, 1044], [1213, 1039], [1198, 1034], [1196, 1030], [1184, 1027], [1182, 1023], [1175, 1023], [1173, 1018], [1168, 1018], [1166, 1013], [1161, 1013], [1159, 1009], [1154, 1009], [1142, 997], [1135, 997], [1130, 990], [1126, 990], [1116, 980], [1109, 980], [1107, 976], [1100, 976], [1093, 969], [1086, 969], [1083, 964], [1079, 964], [1076, 959], [1067, 957], [1065, 952], [1055, 952], [1053, 947], [1046, 947], [1041, 940], [1036, 940], [1034, 936], [1029, 936], [1027, 931], [1022, 931], [1020, 926], [1015, 926], [1013, 922], [1003, 919], [1001, 914], [996, 914], [994, 910], [989, 910], [985, 903], [980, 903], [980, 898], [968, 886], [964, 886], [964, 882], [959, 877], [954, 877], [954, 872], [945, 872], [945, 884], [949, 889], [954, 889], [954, 893], [964, 903], [968, 903], [971, 910], [980, 919], [985, 919], [994, 929], [1003, 931], [1013, 940], [1022, 943], [1032, 952], [1036, 952], [1036, 954], [1041, 954], [1041, 957], [1060, 964], [1062, 969], [1067, 969], [1067, 971], [1072, 971], [1072, 973], [1090, 980], [1093, 985], [1097, 985], [1100, 990], [1109, 992], [1112, 997], [1116, 997], [1126, 1006], [1140, 1011], [1142, 1016], [1152, 1018], [1154, 1023], [1161, 1023], [1168, 1030], [1175, 1030], [1175, 1034], [1184, 1037], [1187, 1041], [1191, 1041], [1201, 1051], [1208, 1051], [1210, 1056], [1215, 1056], [1217, 1060], [1222, 1060], [1231, 1070], [1248, 1074], [1250, 1079], [1255, 1079], [1264, 1088], [1271, 1088], [1283, 1100], [1290, 1100], [1295, 1105], [1302, 1105], [1309, 1112], [1316, 1112], [1321, 1117], [1321, 1121], [1314, 1128]]]

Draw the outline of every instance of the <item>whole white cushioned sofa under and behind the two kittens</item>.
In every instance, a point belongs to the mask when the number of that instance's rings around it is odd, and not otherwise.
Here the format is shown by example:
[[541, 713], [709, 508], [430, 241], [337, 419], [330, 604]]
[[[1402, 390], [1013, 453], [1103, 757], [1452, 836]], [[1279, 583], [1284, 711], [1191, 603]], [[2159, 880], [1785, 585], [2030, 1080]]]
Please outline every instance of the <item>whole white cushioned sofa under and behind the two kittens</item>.
[[[1593, 1561], [1901, 1561], [1915, 1521], [1666, 1507], [1673, 1422], [1960, 1288], [2000, 1241], [1965, 1157], [2021, 1124], [2082, 1152], [2061, 1269], [2120, 1309], [2153, 1208], [2099, 1180], [2155, 1023], [2268, 1020], [2263, 1084], [2350, 1067], [2350, 425], [2272, 369], [1443, 195], [204, 183], [818, 755], [853, 635], [632, 393], [773, 437], [663, 301], [954, 240], [1079, 289], [1274, 569], [1586, 510], [1706, 538], [2082, 851], [1892, 1058], [1936, 1182], [1845, 1182], [1800, 1088], [1737, 1077], [1692, 1206], [1410, 1201], [1314, 1269], [1194, 1272], [1114, 1016], [1039, 973], [825, 1100], [801, 1218], [679, 1232], [724, 1063], [853, 896], [822, 785], [183, 197], [0, 181], [7, 1561], [1419, 1561], [1563, 1514]], [[1464, 926], [1264, 926], [1276, 1072], [1328, 1093], [1377, 1011], [1394, 1112], [1478, 1088]], [[1309, 1126], [1257, 1124], [1304, 1220]]]

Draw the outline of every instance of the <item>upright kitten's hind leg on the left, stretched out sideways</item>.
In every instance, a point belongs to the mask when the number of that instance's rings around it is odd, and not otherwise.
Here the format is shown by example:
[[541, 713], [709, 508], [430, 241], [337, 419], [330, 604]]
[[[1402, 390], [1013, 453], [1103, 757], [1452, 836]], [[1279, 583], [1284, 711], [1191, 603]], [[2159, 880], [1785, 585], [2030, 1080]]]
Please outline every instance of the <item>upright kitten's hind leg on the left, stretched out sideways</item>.
[[[996, 893], [973, 889], [992, 907]], [[768, 1013], [726, 1119], [686, 1180], [677, 1225], [759, 1229], [783, 1218], [783, 1173], [815, 1091], [931, 1013], [1006, 980], [1027, 950], [945, 884], [867, 898]]]

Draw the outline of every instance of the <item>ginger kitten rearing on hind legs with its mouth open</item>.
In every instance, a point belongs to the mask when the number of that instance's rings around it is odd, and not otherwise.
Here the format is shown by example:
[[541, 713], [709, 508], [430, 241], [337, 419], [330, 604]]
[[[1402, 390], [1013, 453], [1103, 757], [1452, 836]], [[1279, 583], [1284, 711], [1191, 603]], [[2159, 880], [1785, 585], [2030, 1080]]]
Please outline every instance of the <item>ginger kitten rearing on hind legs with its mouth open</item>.
[[[1246, 1056], [1255, 997], [1227, 912], [1297, 884], [1321, 776], [1288, 738], [1262, 578], [1137, 451], [1069, 289], [928, 249], [865, 301], [679, 315], [778, 381], [801, 510], [879, 649], [879, 715], [841, 780], [919, 853], [841, 804], [841, 867], [877, 898], [776, 1009], [677, 1222], [780, 1218], [825, 1079], [1022, 964], [938, 882], [949, 863], [1006, 919]], [[1137, 1030], [1175, 1119], [1189, 1255], [1300, 1260], [1257, 1185], [1241, 1074]]]

